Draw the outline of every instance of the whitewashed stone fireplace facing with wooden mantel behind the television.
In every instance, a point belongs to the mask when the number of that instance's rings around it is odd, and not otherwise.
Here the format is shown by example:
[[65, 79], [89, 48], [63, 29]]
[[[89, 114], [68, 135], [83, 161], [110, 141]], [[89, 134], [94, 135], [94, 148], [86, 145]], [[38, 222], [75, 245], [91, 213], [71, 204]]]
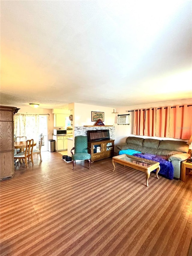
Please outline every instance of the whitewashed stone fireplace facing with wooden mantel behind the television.
[[84, 125], [74, 127], [74, 136], [87, 136], [87, 131], [92, 130], [109, 130], [110, 139], [115, 140], [115, 126], [113, 125]]

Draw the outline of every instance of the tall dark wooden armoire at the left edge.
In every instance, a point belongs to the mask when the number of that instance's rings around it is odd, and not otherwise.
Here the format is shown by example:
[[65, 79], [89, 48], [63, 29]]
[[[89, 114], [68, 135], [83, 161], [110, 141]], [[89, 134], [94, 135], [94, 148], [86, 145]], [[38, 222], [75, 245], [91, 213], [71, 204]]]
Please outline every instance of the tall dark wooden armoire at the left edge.
[[14, 124], [16, 107], [0, 106], [0, 179], [14, 175]]

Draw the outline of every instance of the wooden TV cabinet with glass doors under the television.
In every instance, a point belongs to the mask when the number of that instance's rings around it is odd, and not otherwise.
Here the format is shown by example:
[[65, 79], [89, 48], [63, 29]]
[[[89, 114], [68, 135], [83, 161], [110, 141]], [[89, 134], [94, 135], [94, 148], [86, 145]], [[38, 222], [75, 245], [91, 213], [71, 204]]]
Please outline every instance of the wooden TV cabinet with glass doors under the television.
[[91, 148], [91, 162], [114, 156], [114, 140], [88, 142]]

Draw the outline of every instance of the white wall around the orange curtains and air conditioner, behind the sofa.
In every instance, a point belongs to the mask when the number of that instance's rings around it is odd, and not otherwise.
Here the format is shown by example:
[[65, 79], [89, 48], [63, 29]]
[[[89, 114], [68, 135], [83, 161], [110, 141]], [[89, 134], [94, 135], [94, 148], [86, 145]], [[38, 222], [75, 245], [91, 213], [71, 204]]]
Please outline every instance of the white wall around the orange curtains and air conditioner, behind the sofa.
[[[153, 139], [159, 139], [159, 140], [179, 140], [179, 139], [164, 138], [164, 137], [149, 137], [149, 136], [133, 135], [134, 112], [128, 112], [128, 110], [142, 109], [142, 108], [149, 108], [149, 107], [167, 107], [167, 106], [176, 106], [176, 105], [183, 105], [183, 104], [192, 105], [192, 99], [190, 98], [190, 99], [181, 99], [176, 101], [164, 101], [164, 102], [158, 102], [158, 103], [136, 105], [136, 106], [116, 107], [116, 112], [119, 112], [119, 115], [130, 114], [130, 125], [117, 125], [118, 114], [116, 114], [115, 144], [124, 143], [128, 136], [153, 138]], [[182, 141], [187, 141], [187, 140], [182, 140]]]

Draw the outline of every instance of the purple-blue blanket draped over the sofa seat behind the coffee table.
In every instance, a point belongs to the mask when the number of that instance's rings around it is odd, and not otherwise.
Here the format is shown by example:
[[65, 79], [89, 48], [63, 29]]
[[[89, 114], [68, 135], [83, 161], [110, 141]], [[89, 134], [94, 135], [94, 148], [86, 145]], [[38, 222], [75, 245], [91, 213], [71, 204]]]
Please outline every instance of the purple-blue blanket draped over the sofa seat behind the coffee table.
[[159, 162], [160, 163], [159, 174], [162, 174], [167, 179], [173, 179], [173, 164], [170, 161], [168, 161], [169, 157], [163, 156], [163, 155], [152, 155], [152, 154], [142, 154], [142, 153], [136, 153], [133, 155]]

